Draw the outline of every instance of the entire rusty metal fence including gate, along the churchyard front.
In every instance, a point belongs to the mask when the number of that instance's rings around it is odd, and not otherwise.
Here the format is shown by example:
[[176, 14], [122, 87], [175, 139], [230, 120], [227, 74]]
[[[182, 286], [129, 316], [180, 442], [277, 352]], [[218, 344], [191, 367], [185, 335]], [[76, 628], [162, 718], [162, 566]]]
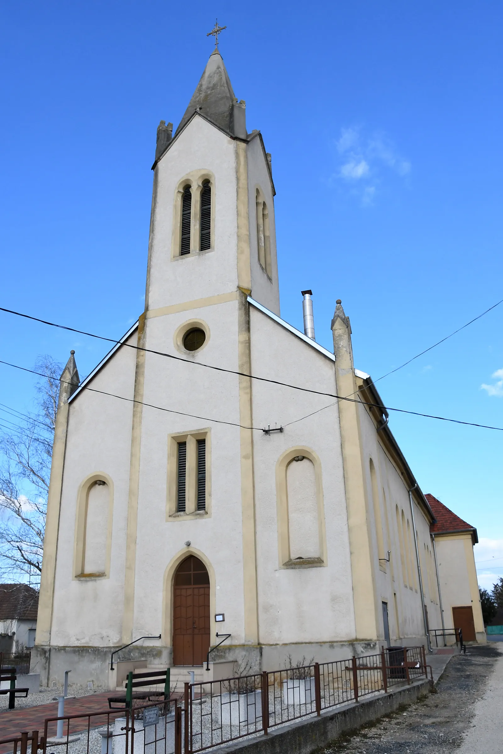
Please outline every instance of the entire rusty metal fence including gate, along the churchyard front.
[[[186, 683], [183, 699], [133, 700], [131, 709], [51, 717], [44, 731], [0, 740], [13, 754], [195, 754], [339, 704], [428, 678], [424, 647]], [[6, 745], [9, 745], [6, 748]]]

